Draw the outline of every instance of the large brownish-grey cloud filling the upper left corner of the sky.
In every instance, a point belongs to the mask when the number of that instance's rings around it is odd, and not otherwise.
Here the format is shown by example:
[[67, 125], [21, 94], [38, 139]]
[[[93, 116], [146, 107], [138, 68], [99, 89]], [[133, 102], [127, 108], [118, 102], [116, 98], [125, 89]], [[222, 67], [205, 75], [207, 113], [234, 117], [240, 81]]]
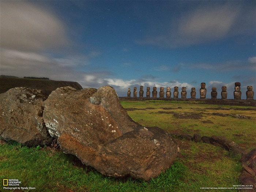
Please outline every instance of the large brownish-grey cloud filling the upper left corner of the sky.
[[35, 51], [71, 43], [55, 15], [26, 1], [1, 1], [0, 22], [6, 49]]

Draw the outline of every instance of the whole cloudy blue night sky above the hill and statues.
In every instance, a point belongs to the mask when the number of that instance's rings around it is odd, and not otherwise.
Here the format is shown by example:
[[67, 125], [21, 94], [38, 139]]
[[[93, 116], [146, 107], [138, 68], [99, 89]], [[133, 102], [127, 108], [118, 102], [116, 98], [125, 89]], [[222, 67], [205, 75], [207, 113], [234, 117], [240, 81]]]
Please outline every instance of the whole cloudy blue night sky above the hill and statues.
[[[256, 1], [4, 1], [1, 75], [83, 88], [256, 90]], [[166, 89], [165, 89], [166, 91]], [[255, 94], [256, 95], [256, 94]], [[173, 97], [173, 95], [172, 95]], [[180, 95], [179, 95], [180, 97]]]

